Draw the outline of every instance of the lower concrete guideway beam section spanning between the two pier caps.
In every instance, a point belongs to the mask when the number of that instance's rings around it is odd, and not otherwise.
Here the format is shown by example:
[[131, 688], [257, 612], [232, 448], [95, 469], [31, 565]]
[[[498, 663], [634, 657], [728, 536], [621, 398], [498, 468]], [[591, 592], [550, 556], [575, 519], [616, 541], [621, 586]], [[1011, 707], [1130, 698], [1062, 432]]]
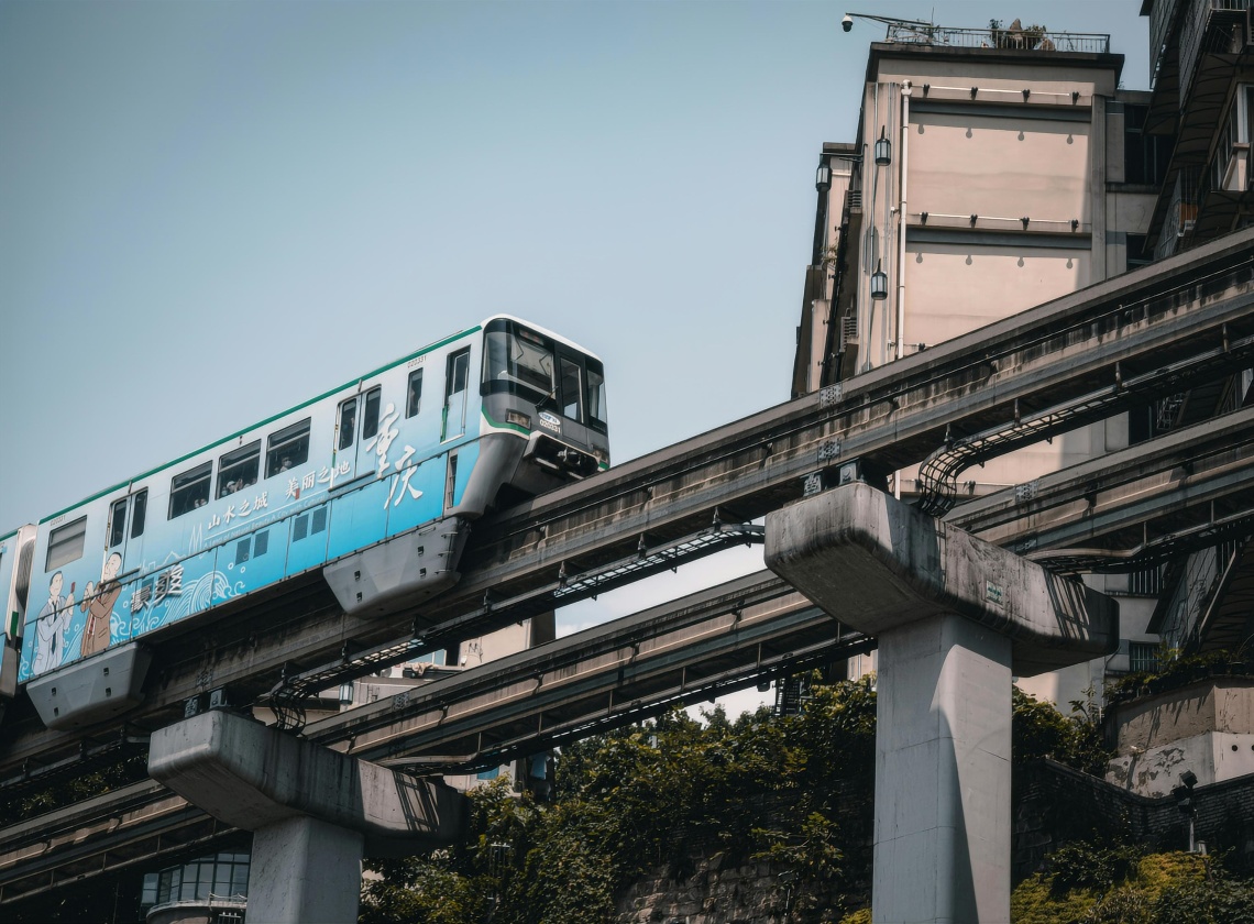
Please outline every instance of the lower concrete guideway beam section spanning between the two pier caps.
[[764, 570], [305, 731], [389, 766], [485, 769], [873, 644]]

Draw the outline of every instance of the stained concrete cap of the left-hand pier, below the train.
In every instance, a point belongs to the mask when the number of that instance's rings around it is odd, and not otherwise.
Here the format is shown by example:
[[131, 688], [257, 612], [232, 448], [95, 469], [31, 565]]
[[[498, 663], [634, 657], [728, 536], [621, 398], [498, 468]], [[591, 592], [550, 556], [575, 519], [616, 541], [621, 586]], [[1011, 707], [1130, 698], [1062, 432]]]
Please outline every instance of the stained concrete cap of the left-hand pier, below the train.
[[366, 855], [405, 856], [458, 841], [465, 796], [229, 712], [153, 733], [148, 774], [246, 831], [308, 817], [360, 834]]

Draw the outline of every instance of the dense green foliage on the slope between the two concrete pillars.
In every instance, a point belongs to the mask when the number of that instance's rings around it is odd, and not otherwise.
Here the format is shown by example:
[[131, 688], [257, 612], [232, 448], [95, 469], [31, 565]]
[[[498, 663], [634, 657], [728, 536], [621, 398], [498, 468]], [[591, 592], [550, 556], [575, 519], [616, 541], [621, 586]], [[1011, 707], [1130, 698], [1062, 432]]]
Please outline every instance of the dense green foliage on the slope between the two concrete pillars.
[[796, 716], [676, 711], [581, 741], [562, 751], [552, 804], [499, 781], [472, 794], [465, 845], [370, 861], [381, 878], [361, 920], [599, 924], [626, 883], [658, 868], [686, 878], [696, 851], [788, 868], [780, 910], [818, 920], [835, 896], [839, 919], [868, 899], [869, 837], [844, 825], [870, 805], [874, 735], [867, 678], [813, 686]]

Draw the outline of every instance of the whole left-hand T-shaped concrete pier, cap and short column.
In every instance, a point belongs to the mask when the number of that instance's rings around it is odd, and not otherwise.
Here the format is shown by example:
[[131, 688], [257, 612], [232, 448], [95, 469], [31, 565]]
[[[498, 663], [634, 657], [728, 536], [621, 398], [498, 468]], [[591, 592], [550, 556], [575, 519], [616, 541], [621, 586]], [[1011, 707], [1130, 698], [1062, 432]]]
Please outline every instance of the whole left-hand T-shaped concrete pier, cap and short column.
[[152, 736], [148, 774], [193, 805], [253, 831], [248, 920], [354, 924], [361, 858], [458, 841], [465, 796], [228, 712]]

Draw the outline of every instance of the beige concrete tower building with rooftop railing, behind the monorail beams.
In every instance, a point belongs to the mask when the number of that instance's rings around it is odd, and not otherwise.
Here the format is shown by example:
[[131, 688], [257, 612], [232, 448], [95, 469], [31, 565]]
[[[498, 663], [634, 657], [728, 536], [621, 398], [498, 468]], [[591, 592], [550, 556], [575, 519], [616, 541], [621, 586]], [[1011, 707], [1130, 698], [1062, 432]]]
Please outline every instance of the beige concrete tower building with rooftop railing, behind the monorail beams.
[[[1120, 89], [1110, 36], [882, 21], [854, 142], [820, 152], [794, 395], [1146, 262], [1169, 148], [1144, 133], [1150, 94]], [[959, 494], [1127, 445], [1124, 415], [968, 470]], [[915, 479], [905, 470], [890, 484], [909, 496]], [[1125, 596], [1120, 654], [1021, 683], [1031, 692], [1063, 703], [1100, 693], [1132, 644], [1156, 646], [1156, 587], [1091, 583]]]

